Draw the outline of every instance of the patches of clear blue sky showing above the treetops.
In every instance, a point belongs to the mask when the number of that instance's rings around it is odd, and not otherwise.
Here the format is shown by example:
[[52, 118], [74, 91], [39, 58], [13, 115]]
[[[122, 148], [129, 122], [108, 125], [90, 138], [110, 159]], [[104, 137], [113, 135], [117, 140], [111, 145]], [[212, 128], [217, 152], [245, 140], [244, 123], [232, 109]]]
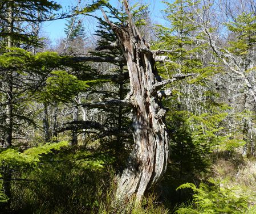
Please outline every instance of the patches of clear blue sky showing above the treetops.
[[[57, 3], [59, 3], [60, 5], [62, 5], [64, 11], [67, 9], [68, 10], [68, 6], [74, 6], [77, 4], [78, 0], [55, 0]], [[87, 3], [87, 0], [82, 0], [81, 1], [82, 4], [83, 2]], [[162, 19], [162, 14], [161, 14], [161, 10], [164, 9], [164, 3], [162, 3], [161, 1], [157, 1], [157, 0], [141, 0], [141, 1], [130, 1], [131, 3], [136, 3], [136, 2], [145, 2], [146, 4], [149, 5], [149, 9], [151, 11], [151, 17], [152, 17], [152, 22], [153, 23], [163, 23], [164, 19]], [[89, 2], [90, 3], [90, 2]], [[115, 6], [118, 8], [118, 6], [120, 5], [120, 2], [118, 0], [109, 0], [109, 3], [111, 3], [111, 5]], [[100, 11], [96, 11], [96, 14], [101, 15]], [[83, 16], [83, 23], [84, 26], [87, 29], [87, 33], [88, 34], [92, 34], [95, 31], [95, 28], [97, 26], [97, 22], [94, 18], [88, 17], [88, 16]], [[65, 27], [65, 23], [67, 23], [67, 21], [65, 19], [63, 20], [55, 20], [52, 22], [46, 22], [43, 24], [42, 27], [42, 34], [44, 37], [48, 37], [48, 39], [50, 39], [50, 41], [52, 43], [55, 43], [56, 40], [61, 39], [63, 37], [65, 37], [64, 34], [64, 27]]]

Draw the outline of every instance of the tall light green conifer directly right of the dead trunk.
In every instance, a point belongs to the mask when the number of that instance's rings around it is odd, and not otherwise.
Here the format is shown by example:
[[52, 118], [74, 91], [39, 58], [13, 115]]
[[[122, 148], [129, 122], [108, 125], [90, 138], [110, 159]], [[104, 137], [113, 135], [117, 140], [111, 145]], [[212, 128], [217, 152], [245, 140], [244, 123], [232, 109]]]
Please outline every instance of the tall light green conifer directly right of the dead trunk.
[[[170, 176], [165, 182], [169, 179], [170, 187], [177, 188], [184, 182], [196, 181], [200, 170], [209, 169], [209, 152], [221, 143], [218, 131], [227, 107], [218, 103], [214, 78], [220, 68], [209, 54], [208, 43], [202, 40], [200, 26], [191, 21], [197, 19], [190, 10], [191, 2], [165, 4], [169, 26], [157, 26], [159, 40], [153, 48], [164, 49], [163, 54], [168, 53], [169, 61], [160, 63], [158, 72], [165, 78], [178, 73], [197, 73], [192, 81], [169, 85], [167, 89], [172, 96], [164, 100], [170, 110], [166, 123], [170, 131], [172, 162], [168, 169]], [[172, 196], [171, 200], [181, 200], [181, 195]]]

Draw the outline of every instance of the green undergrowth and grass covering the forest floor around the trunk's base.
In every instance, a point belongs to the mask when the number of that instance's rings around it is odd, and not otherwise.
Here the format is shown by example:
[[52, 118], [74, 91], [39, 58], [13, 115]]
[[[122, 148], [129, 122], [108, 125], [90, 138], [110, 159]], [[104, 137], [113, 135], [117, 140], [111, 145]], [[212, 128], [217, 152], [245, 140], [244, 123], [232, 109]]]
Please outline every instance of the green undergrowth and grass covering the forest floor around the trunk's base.
[[9, 213], [256, 213], [256, 162], [237, 153], [214, 157], [207, 170], [182, 171], [176, 183], [181, 171], [170, 164], [141, 204], [113, 205], [119, 164], [110, 150], [60, 142], [0, 153], [1, 167], [13, 161]]

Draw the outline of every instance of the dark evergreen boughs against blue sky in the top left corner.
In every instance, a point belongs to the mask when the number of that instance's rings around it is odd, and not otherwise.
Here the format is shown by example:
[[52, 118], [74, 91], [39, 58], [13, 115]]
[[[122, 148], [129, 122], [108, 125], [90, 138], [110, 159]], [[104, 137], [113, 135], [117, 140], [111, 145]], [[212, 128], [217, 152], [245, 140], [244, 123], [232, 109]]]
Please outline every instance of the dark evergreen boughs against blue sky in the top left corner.
[[[0, 43], [1, 49], [7, 46], [7, 37], [10, 37], [15, 45], [25, 48], [40, 46], [42, 47], [42, 40], [31, 32], [32, 24], [38, 23], [39, 20], [52, 19], [55, 17], [53, 13], [61, 8], [54, 1], [10, 1], [3, 0], [0, 2], [1, 14], [1, 30], [0, 30]], [[13, 30], [9, 32], [8, 27], [11, 26], [8, 20], [8, 13], [12, 10], [13, 20], [19, 22], [15, 25]]]

